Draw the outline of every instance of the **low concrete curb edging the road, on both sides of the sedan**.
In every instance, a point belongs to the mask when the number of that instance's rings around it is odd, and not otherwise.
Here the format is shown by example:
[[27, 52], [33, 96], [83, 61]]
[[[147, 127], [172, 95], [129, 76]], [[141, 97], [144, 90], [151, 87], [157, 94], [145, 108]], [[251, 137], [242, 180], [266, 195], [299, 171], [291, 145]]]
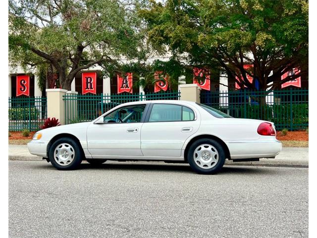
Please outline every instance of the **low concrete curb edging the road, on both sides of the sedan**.
[[[20, 160], [20, 161], [46, 161], [39, 156], [23, 156], [23, 155], [9, 155], [9, 160]], [[140, 161], [142, 162], [142, 161]], [[264, 166], [264, 167], [295, 167], [295, 168], [308, 168], [309, 163], [307, 160], [274, 160], [274, 159], [260, 159], [256, 162], [232, 162], [226, 160], [225, 166]]]

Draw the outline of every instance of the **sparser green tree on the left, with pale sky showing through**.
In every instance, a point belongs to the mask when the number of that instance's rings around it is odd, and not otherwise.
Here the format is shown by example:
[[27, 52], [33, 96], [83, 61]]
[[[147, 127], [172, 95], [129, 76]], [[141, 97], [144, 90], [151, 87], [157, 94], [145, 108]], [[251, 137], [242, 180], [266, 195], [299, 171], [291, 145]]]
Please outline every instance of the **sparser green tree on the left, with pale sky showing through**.
[[115, 68], [118, 59], [141, 59], [141, 21], [131, 0], [9, 0], [12, 65], [51, 64], [70, 90], [80, 70]]

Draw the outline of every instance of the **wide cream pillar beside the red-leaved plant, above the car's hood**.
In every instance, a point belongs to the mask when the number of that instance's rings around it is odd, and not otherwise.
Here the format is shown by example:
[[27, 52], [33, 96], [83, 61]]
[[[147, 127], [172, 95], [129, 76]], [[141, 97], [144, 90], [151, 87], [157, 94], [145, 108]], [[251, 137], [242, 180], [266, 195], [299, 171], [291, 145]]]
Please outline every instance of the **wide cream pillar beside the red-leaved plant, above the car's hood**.
[[63, 96], [66, 89], [51, 88], [47, 89], [48, 118], [56, 118], [61, 125], [65, 124], [65, 104]]

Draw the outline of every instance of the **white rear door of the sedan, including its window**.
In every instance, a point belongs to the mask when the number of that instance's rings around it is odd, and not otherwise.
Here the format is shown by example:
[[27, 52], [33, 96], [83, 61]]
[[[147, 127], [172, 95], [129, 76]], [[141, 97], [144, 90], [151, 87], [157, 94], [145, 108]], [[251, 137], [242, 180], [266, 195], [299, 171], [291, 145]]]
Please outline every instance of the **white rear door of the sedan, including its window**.
[[197, 112], [180, 104], [151, 104], [141, 129], [144, 156], [179, 157], [185, 140], [200, 126]]

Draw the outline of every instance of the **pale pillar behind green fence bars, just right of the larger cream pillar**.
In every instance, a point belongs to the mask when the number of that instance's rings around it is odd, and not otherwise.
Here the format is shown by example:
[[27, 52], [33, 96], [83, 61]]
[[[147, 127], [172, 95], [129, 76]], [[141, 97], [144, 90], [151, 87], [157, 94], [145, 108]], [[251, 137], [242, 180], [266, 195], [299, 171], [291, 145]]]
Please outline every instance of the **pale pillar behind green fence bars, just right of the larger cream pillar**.
[[77, 95], [76, 91], [66, 92], [66, 102], [65, 105], [65, 124], [74, 123], [77, 120], [78, 110], [77, 110]]

